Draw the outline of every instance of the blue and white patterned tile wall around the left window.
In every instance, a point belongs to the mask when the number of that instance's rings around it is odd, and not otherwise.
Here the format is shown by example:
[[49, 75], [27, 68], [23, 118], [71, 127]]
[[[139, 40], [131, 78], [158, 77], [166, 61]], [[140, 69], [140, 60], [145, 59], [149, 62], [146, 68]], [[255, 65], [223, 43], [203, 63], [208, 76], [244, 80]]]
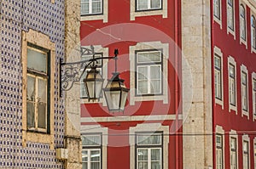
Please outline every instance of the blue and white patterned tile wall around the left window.
[[[33, 29], [55, 42], [58, 65], [64, 56], [64, 0], [4, 0], [0, 3], [0, 168], [63, 168], [48, 144], [22, 147], [21, 31]], [[55, 66], [55, 147], [64, 147], [64, 107]]]

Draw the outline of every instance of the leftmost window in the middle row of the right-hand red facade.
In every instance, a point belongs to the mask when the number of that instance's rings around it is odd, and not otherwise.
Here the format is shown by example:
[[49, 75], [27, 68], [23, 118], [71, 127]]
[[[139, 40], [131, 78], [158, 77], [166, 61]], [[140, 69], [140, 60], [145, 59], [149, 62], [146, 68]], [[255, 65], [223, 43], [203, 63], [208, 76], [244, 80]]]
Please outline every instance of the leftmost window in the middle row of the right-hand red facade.
[[214, 86], [215, 86], [215, 98], [222, 100], [222, 67], [221, 58], [215, 54], [214, 57]]

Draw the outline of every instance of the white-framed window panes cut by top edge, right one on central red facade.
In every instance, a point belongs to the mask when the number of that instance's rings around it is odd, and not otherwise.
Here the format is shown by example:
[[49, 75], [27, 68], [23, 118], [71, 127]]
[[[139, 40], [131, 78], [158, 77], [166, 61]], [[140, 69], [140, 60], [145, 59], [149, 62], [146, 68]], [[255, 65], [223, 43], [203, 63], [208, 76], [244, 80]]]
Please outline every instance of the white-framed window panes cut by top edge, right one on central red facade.
[[137, 11], [161, 9], [161, 0], [137, 0]]

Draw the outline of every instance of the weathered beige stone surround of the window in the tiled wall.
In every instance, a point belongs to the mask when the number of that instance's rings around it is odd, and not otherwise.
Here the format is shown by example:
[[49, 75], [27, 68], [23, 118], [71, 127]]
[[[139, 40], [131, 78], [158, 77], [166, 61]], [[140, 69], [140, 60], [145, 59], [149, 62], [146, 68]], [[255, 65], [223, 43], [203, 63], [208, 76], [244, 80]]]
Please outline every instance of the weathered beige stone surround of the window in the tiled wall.
[[29, 132], [26, 128], [26, 50], [27, 42], [38, 45], [50, 50], [50, 67], [55, 67], [55, 43], [49, 40], [47, 35], [38, 31], [22, 31], [22, 146], [26, 147], [26, 142], [34, 142], [41, 144], [49, 144], [50, 149], [54, 149], [54, 84], [55, 84], [55, 72], [54, 69], [50, 71], [50, 108], [49, 108], [49, 133], [42, 132]]

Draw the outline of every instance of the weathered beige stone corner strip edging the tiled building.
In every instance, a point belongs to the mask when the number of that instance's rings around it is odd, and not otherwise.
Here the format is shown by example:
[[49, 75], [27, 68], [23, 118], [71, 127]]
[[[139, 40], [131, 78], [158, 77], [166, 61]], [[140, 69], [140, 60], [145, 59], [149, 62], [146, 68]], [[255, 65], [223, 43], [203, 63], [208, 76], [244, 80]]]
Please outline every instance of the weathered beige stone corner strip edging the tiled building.
[[[80, 0], [65, 1], [65, 61], [80, 60]], [[80, 138], [80, 86], [75, 83], [71, 90], [64, 94], [66, 111], [65, 144], [68, 149], [68, 159], [65, 168], [82, 168], [81, 138]]]

